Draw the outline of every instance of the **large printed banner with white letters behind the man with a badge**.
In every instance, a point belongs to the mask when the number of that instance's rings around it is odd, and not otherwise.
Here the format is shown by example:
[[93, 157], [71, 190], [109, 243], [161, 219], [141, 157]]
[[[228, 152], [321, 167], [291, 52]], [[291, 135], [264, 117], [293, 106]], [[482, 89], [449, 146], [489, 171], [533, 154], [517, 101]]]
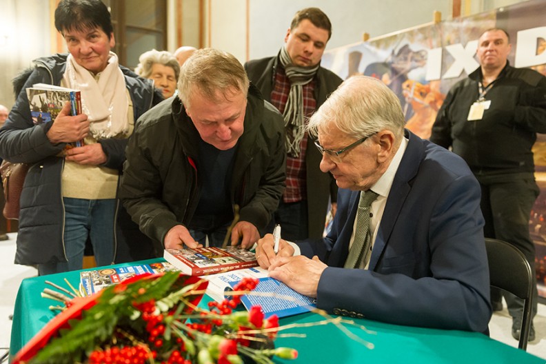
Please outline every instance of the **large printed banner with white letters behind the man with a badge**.
[[[449, 89], [479, 64], [478, 38], [489, 28], [503, 28], [510, 37], [509, 62], [546, 75], [546, 1], [533, 0], [472, 17], [443, 21], [397, 32], [365, 43], [335, 48], [321, 65], [346, 79], [365, 74], [385, 82], [398, 94], [406, 128], [429, 138], [438, 109]], [[538, 294], [546, 299], [546, 135], [534, 145], [540, 196], [529, 216], [536, 246]]]

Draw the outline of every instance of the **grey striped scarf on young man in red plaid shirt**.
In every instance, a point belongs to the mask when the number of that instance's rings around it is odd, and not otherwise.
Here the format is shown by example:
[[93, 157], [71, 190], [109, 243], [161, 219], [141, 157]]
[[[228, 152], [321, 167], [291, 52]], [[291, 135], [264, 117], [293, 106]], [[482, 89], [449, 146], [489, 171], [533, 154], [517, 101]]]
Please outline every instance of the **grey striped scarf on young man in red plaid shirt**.
[[290, 93], [286, 101], [283, 117], [286, 126], [286, 152], [290, 156], [299, 156], [300, 145], [305, 135], [305, 115], [303, 114], [303, 85], [313, 79], [320, 64], [312, 67], [300, 67], [292, 64], [286, 46], [279, 52], [279, 61], [290, 81]]

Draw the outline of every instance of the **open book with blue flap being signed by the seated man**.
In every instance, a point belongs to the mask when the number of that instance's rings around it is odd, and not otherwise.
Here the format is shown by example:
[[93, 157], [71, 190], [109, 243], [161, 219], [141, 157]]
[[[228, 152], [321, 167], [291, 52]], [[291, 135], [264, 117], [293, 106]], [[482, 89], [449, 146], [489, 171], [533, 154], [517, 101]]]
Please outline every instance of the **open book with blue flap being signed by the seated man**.
[[209, 281], [205, 293], [214, 301], [221, 302], [229, 296], [226, 292], [231, 291], [245, 277], [259, 280], [252, 292], [241, 297], [241, 303], [247, 310], [253, 305], [260, 305], [266, 318], [274, 314], [281, 318], [309, 312], [316, 307], [314, 299], [299, 294], [281, 281], [271, 278], [262, 267], [203, 276]]

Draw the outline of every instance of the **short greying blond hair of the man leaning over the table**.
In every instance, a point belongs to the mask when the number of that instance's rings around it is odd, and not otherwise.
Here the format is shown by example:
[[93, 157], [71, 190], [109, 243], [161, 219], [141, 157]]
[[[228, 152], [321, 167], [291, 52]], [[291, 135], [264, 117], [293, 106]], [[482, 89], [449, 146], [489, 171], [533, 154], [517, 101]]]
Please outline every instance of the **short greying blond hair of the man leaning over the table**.
[[203, 48], [196, 50], [181, 67], [179, 97], [190, 108], [194, 92], [219, 101], [218, 92], [226, 99], [234, 92], [243, 92], [246, 97], [249, 84], [243, 65], [232, 54]]

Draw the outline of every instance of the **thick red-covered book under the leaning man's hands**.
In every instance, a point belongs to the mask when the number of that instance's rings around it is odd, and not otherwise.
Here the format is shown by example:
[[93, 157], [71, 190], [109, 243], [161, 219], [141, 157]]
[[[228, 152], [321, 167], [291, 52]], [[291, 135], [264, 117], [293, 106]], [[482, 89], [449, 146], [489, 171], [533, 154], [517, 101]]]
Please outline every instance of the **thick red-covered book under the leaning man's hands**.
[[165, 249], [163, 258], [190, 276], [204, 276], [258, 266], [254, 252], [232, 246]]

